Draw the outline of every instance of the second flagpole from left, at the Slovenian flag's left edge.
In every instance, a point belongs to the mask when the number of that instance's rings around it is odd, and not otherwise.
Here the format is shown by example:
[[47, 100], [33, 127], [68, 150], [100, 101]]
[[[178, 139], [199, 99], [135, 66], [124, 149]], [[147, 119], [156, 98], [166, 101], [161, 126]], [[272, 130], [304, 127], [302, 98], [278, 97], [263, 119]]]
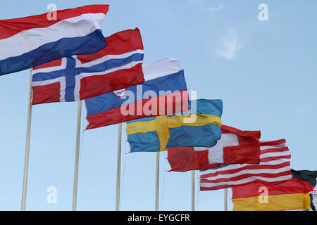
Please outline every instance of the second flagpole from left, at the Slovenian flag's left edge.
[[77, 186], [78, 186], [78, 167], [79, 167], [79, 152], [80, 152], [80, 127], [82, 117], [82, 101], [78, 101], [77, 106], [77, 133], [76, 133], [76, 148], [75, 148], [75, 172], [74, 172], [74, 186], [73, 186], [73, 211], [77, 207]]

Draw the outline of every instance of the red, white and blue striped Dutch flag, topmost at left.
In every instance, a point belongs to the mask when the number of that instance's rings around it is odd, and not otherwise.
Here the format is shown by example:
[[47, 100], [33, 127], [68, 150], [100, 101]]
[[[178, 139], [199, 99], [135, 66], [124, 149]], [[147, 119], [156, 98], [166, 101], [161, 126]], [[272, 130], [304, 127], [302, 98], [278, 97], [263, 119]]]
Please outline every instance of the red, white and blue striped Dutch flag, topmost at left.
[[18, 72], [106, 46], [100, 23], [108, 5], [90, 5], [48, 14], [0, 20], [0, 75]]

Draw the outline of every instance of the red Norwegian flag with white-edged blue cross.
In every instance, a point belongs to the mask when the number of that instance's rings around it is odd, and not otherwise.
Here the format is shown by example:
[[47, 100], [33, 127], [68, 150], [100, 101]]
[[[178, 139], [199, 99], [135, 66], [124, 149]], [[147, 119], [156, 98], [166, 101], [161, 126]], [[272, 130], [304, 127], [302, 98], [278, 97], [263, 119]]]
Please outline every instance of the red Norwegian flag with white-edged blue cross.
[[106, 37], [106, 48], [69, 56], [33, 70], [32, 104], [80, 101], [144, 82], [139, 29]]

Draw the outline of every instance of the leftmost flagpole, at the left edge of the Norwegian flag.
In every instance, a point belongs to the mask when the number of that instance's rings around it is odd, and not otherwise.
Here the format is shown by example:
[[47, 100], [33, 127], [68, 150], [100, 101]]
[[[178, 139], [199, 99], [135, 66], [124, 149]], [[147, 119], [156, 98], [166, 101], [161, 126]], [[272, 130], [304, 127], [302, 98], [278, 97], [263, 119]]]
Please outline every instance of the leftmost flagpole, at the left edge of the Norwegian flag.
[[29, 101], [27, 105], [27, 131], [26, 131], [26, 138], [25, 138], [25, 157], [24, 157], [24, 174], [23, 174], [21, 211], [25, 211], [26, 194], [27, 194], [27, 172], [29, 169], [31, 120], [32, 120], [32, 68], [30, 69]]

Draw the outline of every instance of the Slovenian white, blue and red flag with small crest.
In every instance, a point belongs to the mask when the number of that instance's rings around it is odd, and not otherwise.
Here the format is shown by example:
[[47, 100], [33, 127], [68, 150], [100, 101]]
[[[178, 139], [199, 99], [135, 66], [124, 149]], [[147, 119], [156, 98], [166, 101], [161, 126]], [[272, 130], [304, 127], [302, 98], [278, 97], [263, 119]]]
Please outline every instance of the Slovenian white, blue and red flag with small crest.
[[88, 98], [86, 129], [188, 110], [188, 92], [180, 60], [166, 58], [143, 66], [143, 84]]

